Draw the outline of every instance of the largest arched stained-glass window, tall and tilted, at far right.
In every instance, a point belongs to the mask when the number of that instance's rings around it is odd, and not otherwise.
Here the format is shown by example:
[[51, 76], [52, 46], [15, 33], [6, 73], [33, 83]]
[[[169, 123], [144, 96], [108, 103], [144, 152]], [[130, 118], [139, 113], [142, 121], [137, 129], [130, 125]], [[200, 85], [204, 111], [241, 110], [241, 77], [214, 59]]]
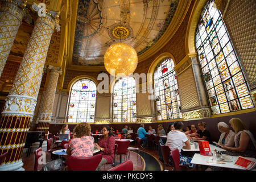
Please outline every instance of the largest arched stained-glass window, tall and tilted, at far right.
[[205, 5], [196, 49], [213, 114], [254, 107], [236, 51], [214, 1]]

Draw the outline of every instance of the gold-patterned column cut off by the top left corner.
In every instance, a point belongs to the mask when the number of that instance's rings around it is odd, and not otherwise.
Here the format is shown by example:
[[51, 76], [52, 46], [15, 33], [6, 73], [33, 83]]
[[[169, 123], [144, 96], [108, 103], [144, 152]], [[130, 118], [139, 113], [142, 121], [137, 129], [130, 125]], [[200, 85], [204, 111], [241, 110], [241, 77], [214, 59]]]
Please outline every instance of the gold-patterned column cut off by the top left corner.
[[0, 7], [0, 76], [25, 15], [26, 1], [3, 1]]

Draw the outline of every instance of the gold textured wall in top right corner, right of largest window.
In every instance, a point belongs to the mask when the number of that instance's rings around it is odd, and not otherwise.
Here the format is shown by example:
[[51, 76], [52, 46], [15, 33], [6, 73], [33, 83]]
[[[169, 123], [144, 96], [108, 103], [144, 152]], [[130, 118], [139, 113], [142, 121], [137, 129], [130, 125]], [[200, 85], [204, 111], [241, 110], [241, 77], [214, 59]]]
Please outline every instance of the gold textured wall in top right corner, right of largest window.
[[224, 16], [224, 22], [245, 66], [250, 81], [250, 88], [256, 88], [256, 1], [230, 1]]

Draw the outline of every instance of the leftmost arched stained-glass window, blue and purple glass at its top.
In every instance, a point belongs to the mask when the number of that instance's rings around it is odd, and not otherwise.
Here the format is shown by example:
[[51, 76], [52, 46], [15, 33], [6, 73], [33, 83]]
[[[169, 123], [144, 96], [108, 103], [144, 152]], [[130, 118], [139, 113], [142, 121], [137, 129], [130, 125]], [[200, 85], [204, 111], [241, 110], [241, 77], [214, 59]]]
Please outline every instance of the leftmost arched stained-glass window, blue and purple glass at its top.
[[96, 84], [89, 79], [76, 81], [69, 95], [68, 122], [94, 122]]

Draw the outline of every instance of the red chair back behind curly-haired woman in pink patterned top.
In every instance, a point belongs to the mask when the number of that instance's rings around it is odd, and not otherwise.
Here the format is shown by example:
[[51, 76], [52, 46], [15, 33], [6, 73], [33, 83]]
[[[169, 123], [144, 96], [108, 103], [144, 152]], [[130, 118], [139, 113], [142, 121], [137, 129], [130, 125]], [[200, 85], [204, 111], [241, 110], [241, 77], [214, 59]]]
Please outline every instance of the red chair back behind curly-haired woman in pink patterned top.
[[96, 171], [102, 159], [101, 154], [93, 155], [88, 158], [78, 156], [68, 156], [67, 166], [69, 171]]

